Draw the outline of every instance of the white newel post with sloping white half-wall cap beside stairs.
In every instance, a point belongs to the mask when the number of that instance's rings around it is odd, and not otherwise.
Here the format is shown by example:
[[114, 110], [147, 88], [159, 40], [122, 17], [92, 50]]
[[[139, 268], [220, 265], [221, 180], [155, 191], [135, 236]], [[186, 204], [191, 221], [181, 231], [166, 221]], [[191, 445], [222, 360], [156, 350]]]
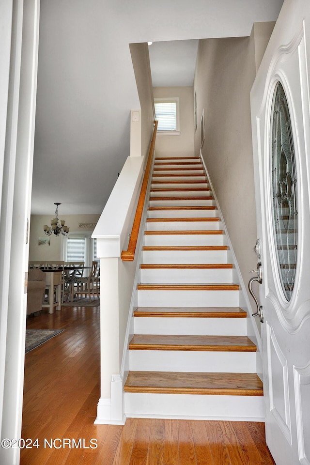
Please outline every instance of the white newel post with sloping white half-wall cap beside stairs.
[[124, 284], [120, 277], [121, 252], [127, 248], [143, 168], [144, 157], [127, 158], [92, 236], [97, 239], [97, 256], [100, 257], [101, 389], [96, 424], [125, 422], [121, 374], [124, 332], [121, 332], [121, 327], [127, 325], [128, 312], [124, 315], [120, 305]]

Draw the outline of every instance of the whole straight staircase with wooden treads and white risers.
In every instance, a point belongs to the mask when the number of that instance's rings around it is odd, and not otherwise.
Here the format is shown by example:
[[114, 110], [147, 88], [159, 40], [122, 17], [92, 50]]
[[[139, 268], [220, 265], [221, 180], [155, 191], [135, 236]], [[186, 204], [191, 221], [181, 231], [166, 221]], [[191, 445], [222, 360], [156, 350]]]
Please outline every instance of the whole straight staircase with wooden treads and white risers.
[[155, 158], [127, 417], [263, 419], [256, 346], [199, 157]]

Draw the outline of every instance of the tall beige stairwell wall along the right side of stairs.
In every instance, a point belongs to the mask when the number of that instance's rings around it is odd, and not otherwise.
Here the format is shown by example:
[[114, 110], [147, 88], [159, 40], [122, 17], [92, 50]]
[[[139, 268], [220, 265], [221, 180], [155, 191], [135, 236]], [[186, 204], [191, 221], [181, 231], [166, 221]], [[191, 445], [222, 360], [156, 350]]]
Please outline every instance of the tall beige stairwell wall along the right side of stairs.
[[[200, 152], [204, 109], [202, 156], [246, 285], [253, 276], [248, 272], [257, 265], [249, 93], [271, 31], [269, 23], [259, 23], [251, 37], [200, 40], [193, 88], [198, 119], [195, 153]], [[249, 300], [256, 310], [250, 295]]]

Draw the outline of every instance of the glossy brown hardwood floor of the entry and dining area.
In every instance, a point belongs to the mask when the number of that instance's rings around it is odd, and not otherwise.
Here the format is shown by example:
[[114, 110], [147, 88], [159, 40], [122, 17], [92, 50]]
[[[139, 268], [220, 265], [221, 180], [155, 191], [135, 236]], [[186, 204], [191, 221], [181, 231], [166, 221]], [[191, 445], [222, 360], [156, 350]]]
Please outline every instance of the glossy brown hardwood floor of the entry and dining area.
[[[263, 423], [128, 418], [125, 426], [94, 425], [99, 320], [99, 308], [92, 307], [27, 318], [28, 328], [65, 331], [25, 357], [22, 437], [38, 438], [40, 446], [22, 449], [21, 465], [274, 464]], [[44, 439], [55, 447], [44, 447]], [[82, 447], [72, 448], [72, 439]]]

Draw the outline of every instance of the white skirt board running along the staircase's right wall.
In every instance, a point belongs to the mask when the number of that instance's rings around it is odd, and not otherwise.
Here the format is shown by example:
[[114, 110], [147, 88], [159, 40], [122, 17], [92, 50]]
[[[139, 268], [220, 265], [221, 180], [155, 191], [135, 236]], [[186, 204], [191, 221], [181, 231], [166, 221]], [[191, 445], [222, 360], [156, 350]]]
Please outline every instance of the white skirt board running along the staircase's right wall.
[[225, 225], [223, 214], [221, 212], [219, 202], [217, 200], [217, 195], [216, 195], [216, 193], [214, 191], [212, 182], [210, 180], [209, 172], [207, 170], [207, 167], [206, 167], [206, 164], [204, 162], [204, 159], [202, 157], [201, 152], [200, 152], [200, 158], [202, 160], [202, 165], [204, 167], [204, 170], [205, 170], [207, 178], [208, 178], [210, 189], [211, 189], [211, 192], [212, 192], [212, 195], [213, 195], [213, 198], [214, 198], [214, 203], [217, 206], [218, 216], [221, 218], [221, 228], [225, 232], [223, 242], [226, 242], [225, 245], [227, 245], [229, 247], [228, 260], [229, 260], [229, 262], [234, 264], [233, 282], [239, 284], [239, 286], [240, 286], [240, 288], [239, 288], [239, 307], [242, 308], [243, 310], [245, 310], [247, 312], [247, 315], [248, 315], [247, 316], [248, 338], [251, 341], [253, 341], [257, 346], [257, 352], [256, 352], [257, 374], [260, 376], [261, 379], [263, 379], [262, 378], [262, 376], [263, 376], [262, 375], [262, 372], [263, 372], [263, 368], [262, 368], [262, 363], [263, 363], [262, 362], [262, 339], [261, 339], [261, 336], [259, 334], [257, 325], [253, 321], [253, 317], [252, 317], [253, 310], [252, 310], [251, 304], [250, 304], [249, 299], [248, 299], [248, 293], [247, 293], [247, 290], [246, 290], [247, 287], [246, 287], [246, 284], [245, 284], [245, 282], [244, 282], [244, 280], [242, 278], [241, 271], [240, 271], [236, 256], [235, 256], [234, 251], [233, 251], [233, 245], [232, 245], [231, 240], [229, 238], [229, 234], [228, 234], [228, 231], [227, 231], [227, 228], [226, 228], [226, 225]]

